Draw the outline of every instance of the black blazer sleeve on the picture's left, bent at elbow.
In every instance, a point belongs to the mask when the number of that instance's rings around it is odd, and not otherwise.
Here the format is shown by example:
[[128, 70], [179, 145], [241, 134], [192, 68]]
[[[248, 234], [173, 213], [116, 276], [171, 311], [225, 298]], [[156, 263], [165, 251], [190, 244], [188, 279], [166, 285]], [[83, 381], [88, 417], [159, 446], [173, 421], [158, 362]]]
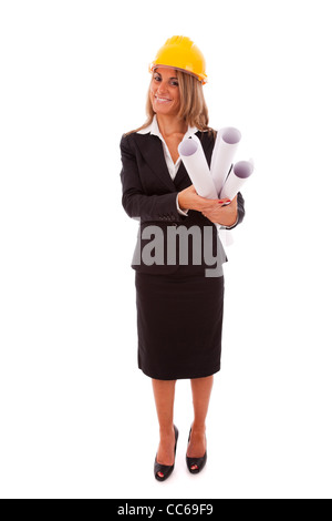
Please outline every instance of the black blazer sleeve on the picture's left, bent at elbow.
[[177, 211], [177, 192], [162, 195], [144, 193], [137, 161], [131, 149], [128, 136], [121, 140], [121, 182], [123, 187], [122, 204], [129, 217], [143, 221], [183, 221], [186, 217]]

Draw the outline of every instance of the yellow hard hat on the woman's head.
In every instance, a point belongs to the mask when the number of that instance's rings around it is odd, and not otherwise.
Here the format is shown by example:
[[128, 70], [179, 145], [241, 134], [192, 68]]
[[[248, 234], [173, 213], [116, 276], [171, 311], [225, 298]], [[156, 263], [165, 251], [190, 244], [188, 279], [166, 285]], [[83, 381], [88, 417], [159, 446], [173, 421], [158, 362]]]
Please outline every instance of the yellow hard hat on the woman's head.
[[169, 38], [158, 50], [156, 58], [149, 65], [149, 71], [152, 72], [158, 65], [172, 67], [194, 74], [203, 84], [207, 82], [204, 55], [187, 37]]

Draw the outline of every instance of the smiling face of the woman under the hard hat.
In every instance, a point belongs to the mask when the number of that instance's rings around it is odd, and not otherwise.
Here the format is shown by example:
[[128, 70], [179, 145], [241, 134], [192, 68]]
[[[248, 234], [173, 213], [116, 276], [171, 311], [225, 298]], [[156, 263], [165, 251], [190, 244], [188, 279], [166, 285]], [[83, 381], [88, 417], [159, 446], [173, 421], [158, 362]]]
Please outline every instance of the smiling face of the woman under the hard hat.
[[180, 100], [175, 69], [158, 67], [154, 70], [149, 96], [156, 114], [176, 115], [178, 113]]

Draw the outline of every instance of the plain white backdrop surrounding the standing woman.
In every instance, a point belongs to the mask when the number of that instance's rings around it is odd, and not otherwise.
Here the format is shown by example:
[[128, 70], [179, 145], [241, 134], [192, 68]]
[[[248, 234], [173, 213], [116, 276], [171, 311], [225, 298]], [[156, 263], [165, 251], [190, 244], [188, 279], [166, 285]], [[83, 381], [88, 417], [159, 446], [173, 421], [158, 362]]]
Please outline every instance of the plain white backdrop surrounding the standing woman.
[[[0, 494], [331, 498], [331, 18], [315, 1], [1, 1]], [[173, 34], [207, 61], [210, 124], [252, 156], [227, 251], [208, 463], [176, 468], [136, 365], [120, 140]]]

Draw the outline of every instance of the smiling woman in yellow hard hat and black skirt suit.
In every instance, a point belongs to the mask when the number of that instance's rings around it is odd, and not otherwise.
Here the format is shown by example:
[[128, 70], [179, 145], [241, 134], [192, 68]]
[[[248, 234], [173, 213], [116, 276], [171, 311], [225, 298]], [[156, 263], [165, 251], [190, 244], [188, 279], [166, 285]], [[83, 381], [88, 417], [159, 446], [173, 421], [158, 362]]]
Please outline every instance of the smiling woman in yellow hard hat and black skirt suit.
[[[236, 226], [245, 210], [240, 193], [227, 205], [197, 195], [179, 159], [180, 142], [196, 135], [210, 164], [216, 137], [208, 126], [205, 60], [198, 48], [186, 37], [170, 38], [151, 72], [148, 120], [122, 137], [121, 180], [123, 206], [141, 221], [132, 264], [138, 367], [153, 382], [160, 433], [154, 473], [164, 481], [175, 463], [177, 379], [190, 379], [193, 391], [188, 470], [197, 473], [206, 463], [205, 423], [214, 374], [220, 369], [227, 260], [217, 228]], [[211, 266], [215, 272], [207, 275]]]

